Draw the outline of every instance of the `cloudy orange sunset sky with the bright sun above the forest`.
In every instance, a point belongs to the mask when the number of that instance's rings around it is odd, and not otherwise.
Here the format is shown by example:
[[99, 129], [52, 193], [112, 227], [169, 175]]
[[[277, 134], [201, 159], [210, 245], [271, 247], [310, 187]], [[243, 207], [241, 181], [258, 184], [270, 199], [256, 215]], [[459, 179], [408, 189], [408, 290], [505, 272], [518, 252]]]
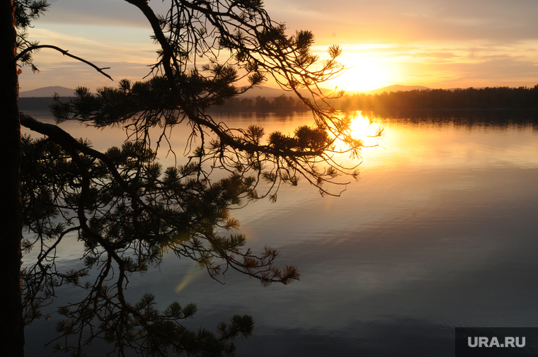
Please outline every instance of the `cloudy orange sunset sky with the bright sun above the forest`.
[[[116, 86], [138, 80], [156, 59], [144, 16], [122, 0], [50, 0], [29, 32], [98, 66], [110, 81], [52, 49], [35, 54], [39, 74], [23, 68], [21, 91], [45, 86]], [[164, 13], [168, 1], [149, 2]], [[538, 84], [537, 0], [265, 0], [290, 35], [311, 30], [312, 51], [340, 45], [345, 74], [326, 88], [370, 90], [392, 84], [428, 88], [534, 87]], [[271, 86], [271, 83], [268, 83]]]

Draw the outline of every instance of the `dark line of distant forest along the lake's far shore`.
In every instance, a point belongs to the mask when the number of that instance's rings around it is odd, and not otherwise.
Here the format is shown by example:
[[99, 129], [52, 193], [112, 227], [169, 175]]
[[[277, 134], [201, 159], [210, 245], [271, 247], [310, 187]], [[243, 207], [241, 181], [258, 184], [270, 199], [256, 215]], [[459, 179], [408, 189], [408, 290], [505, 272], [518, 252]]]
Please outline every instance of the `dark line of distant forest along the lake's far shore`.
[[[338, 110], [413, 109], [528, 109], [538, 108], [538, 85], [534, 88], [495, 87], [467, 89], [426, 89], [381, 94], [345, 95], [331, 100]], [[286, 95], [277, 98], [233, 98], [212, 110], [273, 111], [308, 110], [299, 100]]]

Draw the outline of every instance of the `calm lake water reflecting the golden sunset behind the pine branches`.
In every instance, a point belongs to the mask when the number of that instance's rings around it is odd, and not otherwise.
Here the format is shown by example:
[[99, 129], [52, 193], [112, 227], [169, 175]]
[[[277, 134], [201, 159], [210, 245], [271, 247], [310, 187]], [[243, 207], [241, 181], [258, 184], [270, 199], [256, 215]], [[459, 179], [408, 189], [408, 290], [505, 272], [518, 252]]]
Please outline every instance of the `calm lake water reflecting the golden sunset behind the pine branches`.
[[[309, 122], [308, 113], [216, 116], [284, 133]], [[221, 285], [169, 256], [160, 271], [132, 279], [132, 301], [151, 292], [161, 308], [196, 303], [185, 323], [193, 329], [252, 315], [254, 334], [237, 341], [238, 356], [454, 356], [454, 327], [538, 327], [538, 111], [355, 116], [357, 131], [386, 134], [362, 151], [360, 180], [341, 197], [321, 197], [303, 180], [275, 204], [232, 212], [247, 246], [277, 248], [277, 264], [299, 267], [300, 281], [263, 288], [230, 273]], [[123, 135], [63, 127], [99, 150]], [[177, 153], [184, 139], [173, 134]], [[76, 239], [68, 243], [58, 262], [66, 269], [81, 263]], [[59, 303], [74, 301], [69, 291], [60, 289]], [[54, 321], [26, 329], [28, 356], [49, 356], [42, 343]]]

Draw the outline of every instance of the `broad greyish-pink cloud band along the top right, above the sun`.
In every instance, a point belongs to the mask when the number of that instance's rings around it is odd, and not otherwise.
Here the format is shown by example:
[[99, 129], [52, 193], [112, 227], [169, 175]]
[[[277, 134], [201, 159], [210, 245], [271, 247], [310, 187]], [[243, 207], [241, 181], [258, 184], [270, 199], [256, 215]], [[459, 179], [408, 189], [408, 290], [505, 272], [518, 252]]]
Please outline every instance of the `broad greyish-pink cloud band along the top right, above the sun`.
[[538, 38], [538, 6], [529, 0], [277, 0], [267, 7], [277, 21], [314, 30], [324, 43]]

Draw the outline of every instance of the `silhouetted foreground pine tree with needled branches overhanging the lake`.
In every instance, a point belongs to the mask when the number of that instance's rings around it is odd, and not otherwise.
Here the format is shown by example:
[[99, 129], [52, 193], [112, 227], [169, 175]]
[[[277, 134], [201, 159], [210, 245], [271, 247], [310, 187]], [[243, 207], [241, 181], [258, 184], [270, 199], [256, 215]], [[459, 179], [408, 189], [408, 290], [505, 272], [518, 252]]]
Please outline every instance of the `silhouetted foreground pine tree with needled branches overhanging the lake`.
[[[0, 141], [2, 167], [8, 170], [2, 190], [6, 252], [1, 283], [6, 293], [1, 294], [1, 309], [3, 324], [13, 326], [2, 341], [9, 356], [22, 356], [23, 323], [42, 317], [40, 307], [65, 283], [87, 293], [78, 303], [59, 309], [65, 320], [56, 327], [58, 349], [78, 356], [94, 339], [104, 339], [118, 356], [130, 349], [142, 356], [166, 356], [169, 351], [233, 354], [233, 339], [251, 334], [251, 317], [236, 315], [219, 324], [217, 333], [190, 332], [181, 320], [193, 315], [194, 305], [173, 303], [159, 311], [150, 294], [130, 303], [125, 298], [130, 276], [159, 265], [165, 252], [174, 252], [193, 259], [214, 279], [235, 269], [264, 286], [290, 283], [298, 279], [298, 271], [275, 267], [277, 251], [267, 247], [254, 254], [243, 249], [245, 237], [237, 233], [238, 222], [229, 209], [262, 197], [276, 201], [280, 185], [297, 185], [300, 178], [321, 194], [339, 194], [340, 189], [331, 191], [326, 184], [341, 185], [335, 181], [340, 174], [357, 175], [355, 168], [335, 161], [341, 153], [336, 142], [356, 158], [362, 141], [352, 136], [350, 119], [336, 115], [319, 90], [319, 83], [342, 69], [336, 60], [338, 47], [330, 47], [328, 59], [319, 61], [310, 52], [313, 35], [287, 35], [260, 0], [172, 0], [164, 15], [154, 13], [147, 1], [126, 1], [144, 13], [159, 47], [149, 79], [122, 80], [117, 88], [98, 89], [97, 95], [77, 88], [76, 98], [52, 107], [58, 122], [125, 128], [125, 144], [103, 153], [56, 125], [18, 113], [17, 66], [27, 64], [36, 71], [30, 54], [37, 49], [67, 52], [25, 39], [25, 28], [44, 11], [45, 1], [15, 1], [13, 20], [11, 0], [2, 0], [1, 33], [9, 36], [1, 36], [0, 43]], [[268, 77], [311, 109], [312, 127], [299, 127], [291, 136], [265, 134], [254, 125], [229, 128], [207, 114], [210, 106]], [[237, 86], [245, 79], [247, 86]], [[310, 96], [300, 95], [304, 88]], [[25, 137], [21, 143], [19, 122], [45, 138]], [[188, 160], [164, 169], [156, 151], [173, 150], [170, 129], [180, 126], [190, 131]], [[215, 177], [215, 171], [226, 175]], [[38, 250], [38, 259], [19, 276], [22, 227], [30, 232], [22, 249]], [[59, 271], [57, 247], [74, 233], [84, 243], [84, 267]]]

